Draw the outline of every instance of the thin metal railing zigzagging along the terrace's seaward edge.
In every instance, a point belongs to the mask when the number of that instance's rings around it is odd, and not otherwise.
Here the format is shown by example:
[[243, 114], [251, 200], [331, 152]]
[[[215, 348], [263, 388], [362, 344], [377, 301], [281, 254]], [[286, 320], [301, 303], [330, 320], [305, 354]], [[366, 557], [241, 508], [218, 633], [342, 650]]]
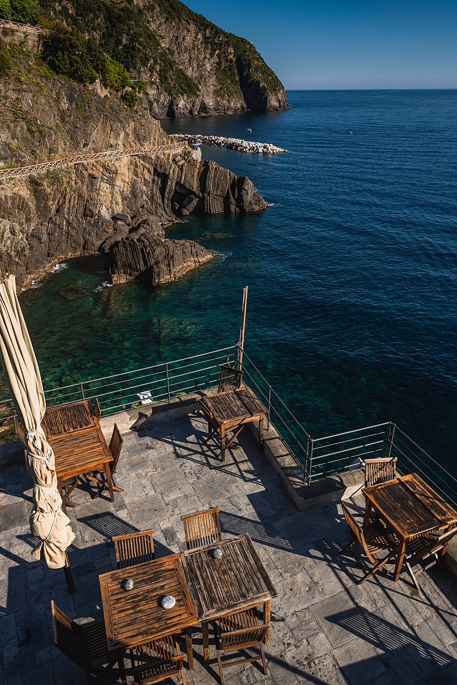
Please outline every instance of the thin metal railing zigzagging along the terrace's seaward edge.
[[[239, 343], [173, 362], [51, 388], [45, 390], [46, 402], [51, 407], [97, 398], [103, 415], [138, 408], [142, 403], [171, 402], [178, 395], [217, 385], [222, 364], [239, 366]], [[386, 421], [322, 438], [311, 438], [244, 350], [242, 369], [243, 382], [254, 390], [267, 408], [266, 429], [274, 424], [277, 435], [303, 469], [305, 486], [330, 475], [360, 469], [367, 458], [393, 456], [397, 458], [399, 473], [419, 473], [425, 482], [457, 507], [457, 477], [395, 423]], [[13, 416], [11, 399], [0, 399], [0, 435], [4, 436], [8, 431], [13, 433]]]

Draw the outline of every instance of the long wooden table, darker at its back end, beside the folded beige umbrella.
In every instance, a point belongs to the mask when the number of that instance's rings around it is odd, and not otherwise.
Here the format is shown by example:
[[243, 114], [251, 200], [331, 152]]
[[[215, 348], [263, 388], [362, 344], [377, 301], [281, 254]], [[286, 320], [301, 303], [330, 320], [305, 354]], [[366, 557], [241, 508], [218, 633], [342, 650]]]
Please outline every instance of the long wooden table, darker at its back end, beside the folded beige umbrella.
[[61, 479], [94, 471], [105, 471], [110, 499], [114, 502], [109, 466], [112, 454], [90, 400], [47, 409], [42, 427], [54, 451], [62, 510], [66, 512], [66, 504], [77, 505], [64, 496]]

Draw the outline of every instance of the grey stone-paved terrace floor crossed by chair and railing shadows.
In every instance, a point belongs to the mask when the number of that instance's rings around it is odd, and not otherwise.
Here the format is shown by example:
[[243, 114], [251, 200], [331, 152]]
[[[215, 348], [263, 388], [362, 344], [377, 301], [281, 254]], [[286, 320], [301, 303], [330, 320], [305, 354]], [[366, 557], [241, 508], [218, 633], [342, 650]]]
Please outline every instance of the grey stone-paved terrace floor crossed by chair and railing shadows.
[[[348, 540], [341, 506], [297, 512], [247, 430], [242, 449], [221, 464], [215, 449], [203, 446], [206, 423], [199, 414], [138, 434], [127, 421], [121, 428], [117, 480], [125, 492], [113, 505], [78, 488], [82, 506], [69, 510], [74, 595], [62, 570], [30, 562], [32, 490], [25, 466], [1, 473], [1, 685], [86, 683], [84, 671], [51, 645], [50, 600], [71, 617], [99, 616], [98, 575], [114, 568], [113, 534], [154, 528], [156, 553], [163, 556], [185, 547], [182, 514], [211, 506], [221, 508], [224, 536], [251, 534], [279, 593], [272, 608], [285, 618], [272, 624], [269, 675], [250, 664], [227, 669], [227, 683], [457, 683], [457, 588], [437, 566], [421, 575], [420, 594], [404, 575], [393, 583], [378, 574], [356, 586], [360, 571], [350, 557], [338, 556]], [[358, 514], [362, 504], [360, 497], [352, 503]], [[194, 636], [201, 654], [198, 627]], [[219, 682], [214, 647], [210, 656], [207, 668], [197, 656], [194, 671], [186, 671], [188, 684]]]

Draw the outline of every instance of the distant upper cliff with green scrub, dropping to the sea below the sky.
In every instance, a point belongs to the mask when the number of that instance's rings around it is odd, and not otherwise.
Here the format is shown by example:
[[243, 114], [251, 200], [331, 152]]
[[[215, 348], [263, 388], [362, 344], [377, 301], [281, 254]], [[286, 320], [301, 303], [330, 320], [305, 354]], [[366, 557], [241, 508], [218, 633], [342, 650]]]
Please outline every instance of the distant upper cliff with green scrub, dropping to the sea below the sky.
[[[0, 4], [5, 16], [9, 0]], [[39, 18], [43, 12], [47, 18]], [[46, 29], [43, 57], [54, 73], [84, 83], [98, 77], [118, 92], [138, 90], [142, 79], [155, 116], [288, 106], [284, 87], [254, 45], [178, 0], [40, 0], [36, 16]], [[117, 64], [131, 79], [123, 80]]]

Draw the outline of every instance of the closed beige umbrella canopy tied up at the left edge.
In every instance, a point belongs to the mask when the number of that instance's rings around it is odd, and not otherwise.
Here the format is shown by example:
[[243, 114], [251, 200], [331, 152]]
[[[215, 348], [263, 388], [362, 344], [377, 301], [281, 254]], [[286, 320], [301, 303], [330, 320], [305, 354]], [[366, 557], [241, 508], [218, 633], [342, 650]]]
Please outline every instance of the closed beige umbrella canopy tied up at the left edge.
[[[0, 271], [2, 266], [5, 269], [2, 262], [0, 258]], [[54, 453], [41, 427], [45, 393], [12, 275], [3, 275], [0, 280], [0, 354], [18, 419], [25, 429], [25, 460], [34, 482], [34, 509], [29, 521], [40, 543], [32, 556], [45, 561], [50, 569], [60, 569], [65, 566], [65, 550], [75, 534], [68, 525], [70, 519], [62, 512]]]

